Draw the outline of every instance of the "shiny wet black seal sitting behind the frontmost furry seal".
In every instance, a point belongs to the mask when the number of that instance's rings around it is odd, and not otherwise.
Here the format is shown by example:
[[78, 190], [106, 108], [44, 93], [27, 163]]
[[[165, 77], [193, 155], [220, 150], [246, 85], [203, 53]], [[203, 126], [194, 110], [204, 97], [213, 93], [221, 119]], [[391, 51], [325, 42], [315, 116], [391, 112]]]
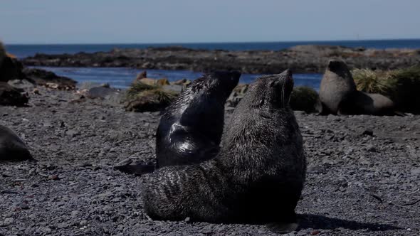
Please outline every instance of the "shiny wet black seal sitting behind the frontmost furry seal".
[[167, 107], [156, 132], [156, 166], [117, 166], [125, 173], [149, 173], [162, 166], [199, 163], [219, 151], [224, 105], [241, 73], [216, 71], [191, 82]]

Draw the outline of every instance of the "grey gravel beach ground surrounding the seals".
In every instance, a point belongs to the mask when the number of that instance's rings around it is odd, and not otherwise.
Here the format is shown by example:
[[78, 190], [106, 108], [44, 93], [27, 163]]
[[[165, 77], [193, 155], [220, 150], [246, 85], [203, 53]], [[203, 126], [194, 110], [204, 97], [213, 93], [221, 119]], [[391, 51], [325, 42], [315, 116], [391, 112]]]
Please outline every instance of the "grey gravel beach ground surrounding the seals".
[[[0, 124], [38, 159], [0, 163], [0, 235], [273, 235], [264, 225], [149, 220], [142, 179], [112, 166], [154, 159], [159, 114], [40, 92], [29, 107], [0, 107]], [[420, 116], [295, 114], [308, 178], [290, 235], [420, 234]]]

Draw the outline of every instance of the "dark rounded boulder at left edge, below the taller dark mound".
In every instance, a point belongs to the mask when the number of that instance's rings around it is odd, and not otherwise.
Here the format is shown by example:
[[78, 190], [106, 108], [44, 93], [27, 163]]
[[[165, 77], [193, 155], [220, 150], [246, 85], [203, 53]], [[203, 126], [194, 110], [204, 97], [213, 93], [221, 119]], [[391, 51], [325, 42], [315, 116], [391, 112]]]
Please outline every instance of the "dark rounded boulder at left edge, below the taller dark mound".
[[11, 87], [6, 82], [0, 82], [0, 105], [22, 107], [28, 103], [28, 95], [23, 90]]

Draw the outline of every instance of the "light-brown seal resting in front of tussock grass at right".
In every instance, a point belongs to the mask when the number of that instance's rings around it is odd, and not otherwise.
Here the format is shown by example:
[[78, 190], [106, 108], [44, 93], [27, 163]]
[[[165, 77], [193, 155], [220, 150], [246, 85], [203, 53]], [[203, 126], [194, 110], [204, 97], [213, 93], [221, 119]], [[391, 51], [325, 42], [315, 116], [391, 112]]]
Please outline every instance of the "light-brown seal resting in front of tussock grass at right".
[[320, 85], [321, 114], [397, 114], [394, 102], [379, 94], [356, 89], [352, 73], [342, 60], [330, 60]]

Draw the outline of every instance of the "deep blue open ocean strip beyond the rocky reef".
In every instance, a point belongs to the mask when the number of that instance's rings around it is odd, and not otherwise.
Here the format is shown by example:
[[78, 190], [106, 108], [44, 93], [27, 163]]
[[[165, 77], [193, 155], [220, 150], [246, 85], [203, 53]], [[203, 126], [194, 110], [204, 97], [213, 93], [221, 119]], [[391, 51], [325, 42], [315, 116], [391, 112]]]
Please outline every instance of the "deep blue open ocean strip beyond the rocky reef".
[[263, 42], [263, 43], [133, 43], [133, 44], [51, 44], [51, 45], [6, 45], [9, 53], [18, 58], [26, 58], [36, 53], [95, 53], [109, 51], [112, 48], [149, 48], [179, 45], [194, 49], [224, 49], [224, 50], [281, 50], [295, 45], [342, 45], [346, 47], [364, 48], [420, 48], [420, 39], [398, 40], [363, 40], [363, 41], [294, 41], [294, 42]]

